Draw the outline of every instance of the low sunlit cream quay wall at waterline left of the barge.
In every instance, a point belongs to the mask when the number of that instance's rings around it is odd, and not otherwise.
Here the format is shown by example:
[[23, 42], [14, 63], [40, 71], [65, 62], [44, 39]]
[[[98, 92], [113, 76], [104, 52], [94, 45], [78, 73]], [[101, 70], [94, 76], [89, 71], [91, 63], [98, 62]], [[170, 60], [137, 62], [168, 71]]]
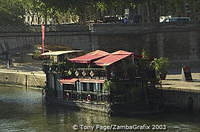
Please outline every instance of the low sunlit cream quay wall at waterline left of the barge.
[[45, 87], [45, 75], [18, 72], [0, 72], [0, 83], [24, 85], [27, 87]]

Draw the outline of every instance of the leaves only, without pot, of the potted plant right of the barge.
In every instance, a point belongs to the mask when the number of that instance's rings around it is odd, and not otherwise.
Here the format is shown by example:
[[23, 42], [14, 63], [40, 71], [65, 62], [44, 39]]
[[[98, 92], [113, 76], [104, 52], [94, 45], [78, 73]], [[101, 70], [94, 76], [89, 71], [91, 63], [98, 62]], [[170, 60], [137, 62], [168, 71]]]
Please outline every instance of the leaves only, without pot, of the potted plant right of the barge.
[[167, 68], [169, 66], [168, 58], [155, 58], [151, 65], [155, 68], [155, 70], [159, 71], [160, 73], [167, 73]]

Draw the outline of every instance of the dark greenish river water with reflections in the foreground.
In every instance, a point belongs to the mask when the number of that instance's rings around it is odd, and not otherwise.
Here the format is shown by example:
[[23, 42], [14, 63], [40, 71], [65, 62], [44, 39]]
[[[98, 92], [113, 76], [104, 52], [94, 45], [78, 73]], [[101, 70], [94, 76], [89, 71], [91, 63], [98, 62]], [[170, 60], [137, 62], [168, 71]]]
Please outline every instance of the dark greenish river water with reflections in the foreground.
[[[99, 112], [80, 111], [67, 106], [45, 105], [40, 90], [0, 85], [0, 132], [72, 132], [73, 127], [95, 131], [130, 126], [145, 126], [141, 131], [167, 127], [168, 132], [200, 132], [200, 116], [185, 113], [165, 113], [134, 117], [109, 117]], [[78, 125], [78, 126], [77, 126]], [[151, 130], [148, 126], [150, 126]], [[126, 127], [127, 128], [127, 127]], [[82, 130], [80, 130], [82, 129]], [[104, 129], [104, 130], [103, 130]], [[127, 128], [128, 129], [128, 128]], [[114, 130], [113, 130], [114, 131]]]

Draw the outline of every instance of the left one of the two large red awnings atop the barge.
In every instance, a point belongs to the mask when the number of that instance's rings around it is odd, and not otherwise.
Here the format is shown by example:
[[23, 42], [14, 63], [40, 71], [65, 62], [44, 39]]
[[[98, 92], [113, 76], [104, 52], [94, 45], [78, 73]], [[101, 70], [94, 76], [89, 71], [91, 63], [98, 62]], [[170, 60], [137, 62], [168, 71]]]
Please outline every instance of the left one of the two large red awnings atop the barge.
[[88, 54], [85, 54], [83, 56], [69, 59], [69, 61], [75, 62], [75, 63], [91, 63], [91, 61], [102, 58], [107, 55], [109, 55], [108, 52], [105, 52], [102, 50], [96, 50], [96, 51], [90, 52]]

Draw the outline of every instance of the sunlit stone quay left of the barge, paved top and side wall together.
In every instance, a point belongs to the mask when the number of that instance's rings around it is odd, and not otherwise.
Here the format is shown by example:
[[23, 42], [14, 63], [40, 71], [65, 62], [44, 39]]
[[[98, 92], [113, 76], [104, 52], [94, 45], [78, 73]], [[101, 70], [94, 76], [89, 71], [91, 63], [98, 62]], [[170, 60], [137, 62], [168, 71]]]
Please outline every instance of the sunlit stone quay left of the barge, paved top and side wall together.
[[0, 83], [44, 87], [45, 81], [46, 75], [41, 67], [26, 64], [5, 68], [0, 65]]

